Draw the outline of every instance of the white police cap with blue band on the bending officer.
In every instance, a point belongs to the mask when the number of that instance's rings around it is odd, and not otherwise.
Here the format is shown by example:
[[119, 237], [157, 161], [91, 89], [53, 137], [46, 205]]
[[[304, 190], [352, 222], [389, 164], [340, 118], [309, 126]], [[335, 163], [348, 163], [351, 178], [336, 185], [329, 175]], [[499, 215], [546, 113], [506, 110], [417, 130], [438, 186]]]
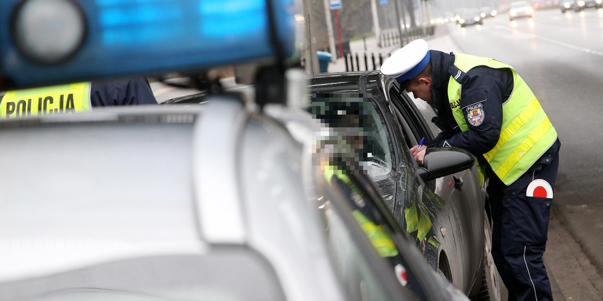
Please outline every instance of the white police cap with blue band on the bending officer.
[[381, 66], [381, 73], [403, 82], [423, 71], [430, 59], [427, 42], [423, 39], [414, 40], [388, 57]]

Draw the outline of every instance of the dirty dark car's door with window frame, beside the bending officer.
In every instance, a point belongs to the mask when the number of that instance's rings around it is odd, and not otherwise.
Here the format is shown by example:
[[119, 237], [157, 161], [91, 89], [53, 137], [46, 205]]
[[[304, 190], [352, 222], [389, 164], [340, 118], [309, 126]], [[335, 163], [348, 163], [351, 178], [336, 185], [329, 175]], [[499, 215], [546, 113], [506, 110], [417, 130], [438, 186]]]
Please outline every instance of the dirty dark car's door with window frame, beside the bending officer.
[[[425, 120], [409, 96], [400, 91], [396, 81], [384, 78], [384, 93], [405, 134], [403, 151], [409, 153], [409, 147], [418, 144], [423, 137], [427, 140], [435, 137], [437, 129]], [[416, 164], [414, 158], [411, 162]], [[442, 243], [437, 257], [438, 268], [461, 290], [469, 293], [473, 284], [480, 282], [478, 270], [484, 246], [484, 194], [476, 167], [426, 183], [414, 176], [412, 181], [407, 179], [406, 187], [419, 190], [424, 203], [443, 205], [433, 220], [437, 229], [435, 235]]]

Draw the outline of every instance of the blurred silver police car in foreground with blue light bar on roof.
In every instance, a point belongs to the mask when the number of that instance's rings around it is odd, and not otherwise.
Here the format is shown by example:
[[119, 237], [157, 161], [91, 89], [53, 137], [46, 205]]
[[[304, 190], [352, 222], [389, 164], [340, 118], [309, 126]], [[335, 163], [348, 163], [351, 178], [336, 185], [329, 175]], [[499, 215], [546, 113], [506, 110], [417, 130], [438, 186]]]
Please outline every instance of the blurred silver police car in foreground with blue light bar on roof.
[[0, 90], [262, 63], [254, 105], [221, 95], [0, 120], [0, 300], [466, 300], [360, 187], [402, 257], [388, 264], [312, 165], [313, 123], [284, 89], [307, 84], [283, 67], [293, 12], [3, 1]]

